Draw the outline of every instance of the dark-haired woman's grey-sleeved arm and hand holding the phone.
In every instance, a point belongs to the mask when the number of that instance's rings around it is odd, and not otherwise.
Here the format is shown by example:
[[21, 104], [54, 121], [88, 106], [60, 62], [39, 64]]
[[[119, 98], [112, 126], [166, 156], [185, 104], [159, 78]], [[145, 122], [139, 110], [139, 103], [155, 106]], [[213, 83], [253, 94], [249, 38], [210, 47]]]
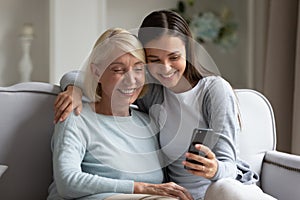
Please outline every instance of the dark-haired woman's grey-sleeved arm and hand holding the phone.
[[183, 161], [183, 165], [190, 168], [189, 172], [210, 179], [237, 177], [236, 135], [240, 127], [235, 95], [231, 86], [218, 77], [207, 83], [203, 91], [202, 111], [205, 123], [218, 137], [213, 147], [197, 144], [195, 148], [204, 156], [186, 153], [186, 157], [201, 164]]

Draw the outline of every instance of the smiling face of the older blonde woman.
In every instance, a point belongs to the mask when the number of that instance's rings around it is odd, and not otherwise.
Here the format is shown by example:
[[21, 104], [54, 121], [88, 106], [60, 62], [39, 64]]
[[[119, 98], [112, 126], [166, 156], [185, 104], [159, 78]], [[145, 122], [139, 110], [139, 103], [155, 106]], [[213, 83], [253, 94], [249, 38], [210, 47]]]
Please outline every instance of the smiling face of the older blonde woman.
[[[145, 83], [144, 63], [127, 53], [114, 60], [100, 78], [102, 98], [111, 103], [131, 104], [139, 96]], [[114, 101], [112, 101], [114, 100]]]

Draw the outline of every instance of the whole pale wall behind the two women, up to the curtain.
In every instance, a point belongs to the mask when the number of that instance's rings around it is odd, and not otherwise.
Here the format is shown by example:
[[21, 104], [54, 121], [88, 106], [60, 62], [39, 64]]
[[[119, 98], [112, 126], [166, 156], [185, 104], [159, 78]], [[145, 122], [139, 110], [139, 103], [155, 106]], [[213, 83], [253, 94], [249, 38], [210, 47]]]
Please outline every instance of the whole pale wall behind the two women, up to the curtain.
[[[219, 66], [222, 75], [236, 88], [256, 87], [253, 76], [262, 74], [262, 40], [256, 13], [249, 13], [247, 7], [254, 0], [234, 1], [197, 0], [196, 9], [220, 11], [223, 6], [231, 9], [239, 24], [239, 44], [230, 52], [223, 53], [214, 45], [206, 45]], [[260, 7], [255, 0], [254, 11]], [[122, 2], [122, 3], [120, 3]], [[0, 2], [0, 86], [19, 81], [18, 62], [21, 58], [18, 34], [25, 22], [34, 24], [35, 38], [32, 43], [33, 81], [58, 83], [61, 76], [70, 70], [78, 69], [91, 49], [96, 38], [108, 27], [136, 29], [142, 19], [151, 11], [175, 8], [176, 0], [1, 0]], [[253, 5], [253, 4], [252, 4]], [[261, 10], [263, 15], [263, 11]], [[249, 24], [252, 23], [252, 24]], [[253, 24], [254, 23], [254, 24]], [[256, 31], [256, 32], [254, 32]], [[256, 41], [255, 37], [262, 40]], [[252, 39], [251, 39], [252, 38]], [[259, 53], [261, 52], [261, 53]], [[254, 57], [260, 59], [254, 59]], [[251, 72], [249, 74], [249, 72]], [[252, 83], [251, 83], [252, 82]]]

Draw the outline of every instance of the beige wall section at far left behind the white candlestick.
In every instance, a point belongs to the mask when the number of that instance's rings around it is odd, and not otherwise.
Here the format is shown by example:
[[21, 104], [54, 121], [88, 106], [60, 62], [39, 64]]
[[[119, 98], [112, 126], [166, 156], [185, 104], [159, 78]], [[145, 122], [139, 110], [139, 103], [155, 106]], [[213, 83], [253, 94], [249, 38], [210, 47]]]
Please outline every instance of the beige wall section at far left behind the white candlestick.
[[48, 0], [1, 0], [0, 2], [0, 86], [19, 82], [21, 59], [19, 34], [24, 23], [33, 23], [31, 46], [32, 80], [49, 80], [49, 3]]

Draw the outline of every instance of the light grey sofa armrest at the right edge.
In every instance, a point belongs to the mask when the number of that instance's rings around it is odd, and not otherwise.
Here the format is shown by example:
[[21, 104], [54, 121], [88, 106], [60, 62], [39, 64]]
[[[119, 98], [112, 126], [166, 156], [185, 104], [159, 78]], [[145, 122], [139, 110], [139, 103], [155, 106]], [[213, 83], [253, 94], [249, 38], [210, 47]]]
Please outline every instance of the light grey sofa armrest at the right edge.
[[263, 161], [261, 188], [279, 200], [299, 200], [300, 156], [268, 151]]

